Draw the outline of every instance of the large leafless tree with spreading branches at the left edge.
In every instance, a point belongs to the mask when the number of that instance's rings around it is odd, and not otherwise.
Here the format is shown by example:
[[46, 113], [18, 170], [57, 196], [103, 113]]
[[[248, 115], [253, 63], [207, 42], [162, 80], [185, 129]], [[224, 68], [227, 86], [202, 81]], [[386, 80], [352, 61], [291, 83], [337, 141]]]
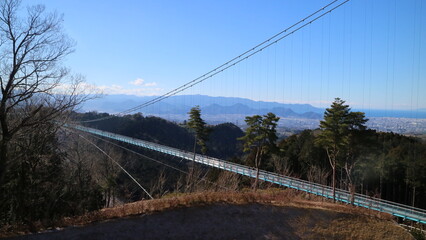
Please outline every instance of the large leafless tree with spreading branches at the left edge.
[[42, 127], [72, 110], [85, 96], [81, 77], [61, 65], [73, 51], [62, 17], [42, 5], [21, 9], [19, 0], [0, 3], [0, 184], [18, 132]]

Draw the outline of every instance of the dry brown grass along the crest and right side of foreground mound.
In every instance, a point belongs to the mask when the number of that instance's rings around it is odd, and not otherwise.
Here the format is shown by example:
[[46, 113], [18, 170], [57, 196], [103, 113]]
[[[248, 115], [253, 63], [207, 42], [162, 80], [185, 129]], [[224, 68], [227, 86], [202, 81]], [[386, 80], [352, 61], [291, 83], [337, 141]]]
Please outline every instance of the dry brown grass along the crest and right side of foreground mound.
[[[312, 225], [312, 223], [308, 224], [309, 228], [314, 229], [314, 233], [316, 234], [315, 238], [321, 236], [320, 238], [323, 239], [342, 239], [343, 235], [341, 234], [345, 234], [345, 236], [353, 236], [353, 239], [379, 239], [368, 237], [365, 238], [365, 236], [357, 235], [367, 234], [367, 231], [362, 231], [360, 233], [359, 224], [365, 224], [365, 221], [369, 221], [368, 225], [372, 227], [372, 231], [377, 231], [377, 229], [380, 229], [380, 231], [382, 231], [384, 234], [383, 236], [387, 234], [388, 226], [393, 224], [391, 221], [389, 221], [392, 219], [392, 216], [389, 214], [378, 213], [368, 209], [357, 208], [343, 204], [334, 204], [328, 201], [324, 201], [323, 198], [306, 193], [296, 192], [295, 190], [291, 189], [268, 189], [257, 192], [242, 191], [170, 194], [161, 199], [139, 201], [125, 204], [120, 207], [106, 208], [99, 211], [90, 212], [82, 216], [64, 218], [55, 222], [49, 227], [45, 227], [41, 223], [35, 223], [33, 227], [36, 231], [43, 231], [51, 228], [62, 228], [66, 226], [84, 226], [89, 223], [101, 222], [109, 219], [123, 218], [141, 214], [152, 214], [164, 210], [210, 205], [216, 203], [235, 205], [261, 203], [275, 206], [324, 209], [336, 213], [343, 213], [345, 217], [334, 220], [335, 222], [333, 222], [333, 224], [328, 224], [326, 226], [321, 225], [321, 223], [314, 225]], [[315, 214], [315, 212], [312, 214]], [[348, 214], [353, 217], [348, 218], [346, 216]], [[308, 217], [300, 218], [297, 221], [300, 221], [300, 226], [303, 225], [306, 227], [309, 219]], [[404, 231], [402, 228], [401, 230]], [[27, 226], [3, 226], [0, 229], [0, 237], [22, 235], [29, 232], [30, 230]], [[301, 232], [302, 234], [304, 229], [299, 229], [298, 232]], [[306, 237], [309, 238], [309, 236]], [[385, 239], [385, 237], [382, 239]]]

